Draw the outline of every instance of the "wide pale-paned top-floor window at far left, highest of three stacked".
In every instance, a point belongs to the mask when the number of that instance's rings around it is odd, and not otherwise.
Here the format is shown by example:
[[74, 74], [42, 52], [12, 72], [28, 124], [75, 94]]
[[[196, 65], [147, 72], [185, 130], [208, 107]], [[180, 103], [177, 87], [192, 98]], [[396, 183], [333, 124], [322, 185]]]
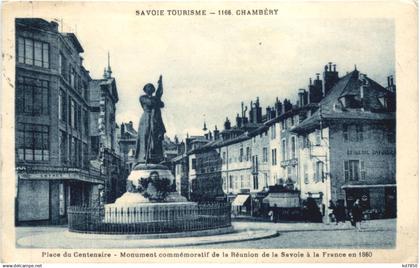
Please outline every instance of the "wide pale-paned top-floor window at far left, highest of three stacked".
[[43, 68], [50, 67], [50, 47], [48, 43], [18, 37], [17, 59], [19, 63]]

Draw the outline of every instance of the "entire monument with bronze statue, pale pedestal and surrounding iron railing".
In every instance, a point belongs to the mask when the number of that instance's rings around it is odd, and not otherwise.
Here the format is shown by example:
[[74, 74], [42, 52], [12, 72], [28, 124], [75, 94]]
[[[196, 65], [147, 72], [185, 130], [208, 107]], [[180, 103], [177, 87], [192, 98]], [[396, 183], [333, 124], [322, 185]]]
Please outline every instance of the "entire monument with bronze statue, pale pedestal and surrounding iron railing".
[[145, 94], [140, 96], [143, 114], [135, 155], [137, 164], [128, 176], [126, 193], [115, 203], [99, 208], [69, 207], [69, 230], [159, 237], [163, 233], [177, 237], [232, 232], [229, 203], [198, 204], [176, 192], [175, 178], [163, 165], [162, 141], [166, 130], [161, 116], [164, 106], [162, 76], [156, 93], [153, 84], [146, 84], [143, 91]]

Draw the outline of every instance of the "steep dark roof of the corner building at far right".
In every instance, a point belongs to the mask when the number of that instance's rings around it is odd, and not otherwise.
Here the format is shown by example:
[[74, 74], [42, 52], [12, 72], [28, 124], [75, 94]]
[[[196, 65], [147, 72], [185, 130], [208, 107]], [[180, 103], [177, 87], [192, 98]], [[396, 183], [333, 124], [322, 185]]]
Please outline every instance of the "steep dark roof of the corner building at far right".
[[360, 95], [362, 81], [359, 80], [359, 71], [342, 77], [331, 91], [318, 104], [318, 110], [301, 122], [294, 132], [305, 132], [319, 126], [321, 119], [325, 122], [333, 120], [395, 120], [395, 112], [381, 110], [382, 105], [378, 98], [384, 95], [395, 97], [395, 93], [388, 91], [370, 78], [364, 90], [364, 109], [345, 108], [342, 98]]

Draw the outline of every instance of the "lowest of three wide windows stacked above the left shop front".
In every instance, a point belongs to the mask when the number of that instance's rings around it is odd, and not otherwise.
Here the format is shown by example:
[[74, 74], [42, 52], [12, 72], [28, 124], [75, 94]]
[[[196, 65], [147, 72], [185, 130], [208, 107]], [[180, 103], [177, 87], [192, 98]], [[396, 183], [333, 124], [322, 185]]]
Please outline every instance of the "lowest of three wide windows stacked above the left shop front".
[[19, 160], [48, 161], [50, 159], [48, 126], [18, 124], [16, 135]]

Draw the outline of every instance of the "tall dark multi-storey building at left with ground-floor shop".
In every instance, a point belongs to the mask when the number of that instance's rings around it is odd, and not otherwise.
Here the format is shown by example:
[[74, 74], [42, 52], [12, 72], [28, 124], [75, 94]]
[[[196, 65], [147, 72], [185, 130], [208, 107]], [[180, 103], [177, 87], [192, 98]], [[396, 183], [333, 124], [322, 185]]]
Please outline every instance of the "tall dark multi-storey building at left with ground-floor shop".
[[104, 178], [89, 165], [89, 72], [73, 33], [16, 19], [16, 223], [60, 224], [94, 204]]

